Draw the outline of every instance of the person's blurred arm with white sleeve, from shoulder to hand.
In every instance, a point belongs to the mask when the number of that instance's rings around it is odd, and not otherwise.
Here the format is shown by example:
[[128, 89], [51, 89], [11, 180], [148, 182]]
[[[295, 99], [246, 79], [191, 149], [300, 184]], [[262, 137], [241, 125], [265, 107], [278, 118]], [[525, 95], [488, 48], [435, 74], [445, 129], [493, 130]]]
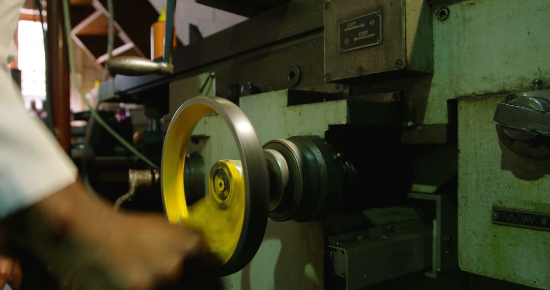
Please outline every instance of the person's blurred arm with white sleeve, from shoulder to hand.
[[[161, 214], [114, 213], [76, 181], [51, 132], [27, 114], [7, 66], [22, 4], [0, 0], [0, 230], [48, 265], [64, 289], [150, 289], [182, 277], [194, 289], [190, 283], [211, 281], [200, 280], [210, 272], [198, 232]], [[0, 255], [11, 268], [0, 279], [17, 287], [17, 264], [5, 248]]]

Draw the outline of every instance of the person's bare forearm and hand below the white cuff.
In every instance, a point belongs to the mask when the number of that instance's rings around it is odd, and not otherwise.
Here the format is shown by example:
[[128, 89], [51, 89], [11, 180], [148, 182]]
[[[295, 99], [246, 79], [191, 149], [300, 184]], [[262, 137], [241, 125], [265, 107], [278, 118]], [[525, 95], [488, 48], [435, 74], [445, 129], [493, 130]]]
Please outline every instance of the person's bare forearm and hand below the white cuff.
[[170, 225], [160, 214], [114, 213], [79, 183], [21, 218], [20, 236], [62, 288], [153, 289], [180, 282], [185, 289], [213, 287], [201, 286], [212, 282], [212, 269], [198, 231]]

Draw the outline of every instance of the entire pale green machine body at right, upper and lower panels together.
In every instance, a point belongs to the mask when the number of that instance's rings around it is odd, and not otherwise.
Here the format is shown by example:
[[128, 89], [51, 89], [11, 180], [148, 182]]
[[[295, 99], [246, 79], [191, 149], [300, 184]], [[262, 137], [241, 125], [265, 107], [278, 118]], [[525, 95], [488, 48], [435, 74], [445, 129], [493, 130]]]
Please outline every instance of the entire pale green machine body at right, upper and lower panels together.
[[448, 20], [434, 24], [430, 99], [459, 99], [459, 265], [549, 288], [550, 232], [492, 224], [492, 208], [549, 213], [550, 164], [500, 144], [491, 121], [507, 94], [531, 91], [535, 79], [550, 81], [550, 55], [544, 52], [550, 3], [464, 1], [449, 10]]

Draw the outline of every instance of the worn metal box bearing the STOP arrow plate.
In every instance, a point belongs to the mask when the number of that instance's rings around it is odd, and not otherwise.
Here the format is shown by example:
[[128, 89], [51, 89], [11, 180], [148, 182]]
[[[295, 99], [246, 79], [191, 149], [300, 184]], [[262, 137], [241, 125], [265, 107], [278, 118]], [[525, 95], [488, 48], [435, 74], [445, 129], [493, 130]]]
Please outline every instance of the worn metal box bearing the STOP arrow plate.
[[328, 0], [323, 11], [325, 81], [433, 72], [426, 1]]

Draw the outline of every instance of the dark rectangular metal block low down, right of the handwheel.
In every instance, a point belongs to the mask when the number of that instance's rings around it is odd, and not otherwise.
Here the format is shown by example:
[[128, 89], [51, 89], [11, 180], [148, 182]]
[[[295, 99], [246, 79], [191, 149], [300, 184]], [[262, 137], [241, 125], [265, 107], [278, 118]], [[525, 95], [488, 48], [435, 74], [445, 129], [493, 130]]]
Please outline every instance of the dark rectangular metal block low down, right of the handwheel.
[[432, 228], [421, 220], [329, 237], [333, 275], [356, 290], [430, 267]]

